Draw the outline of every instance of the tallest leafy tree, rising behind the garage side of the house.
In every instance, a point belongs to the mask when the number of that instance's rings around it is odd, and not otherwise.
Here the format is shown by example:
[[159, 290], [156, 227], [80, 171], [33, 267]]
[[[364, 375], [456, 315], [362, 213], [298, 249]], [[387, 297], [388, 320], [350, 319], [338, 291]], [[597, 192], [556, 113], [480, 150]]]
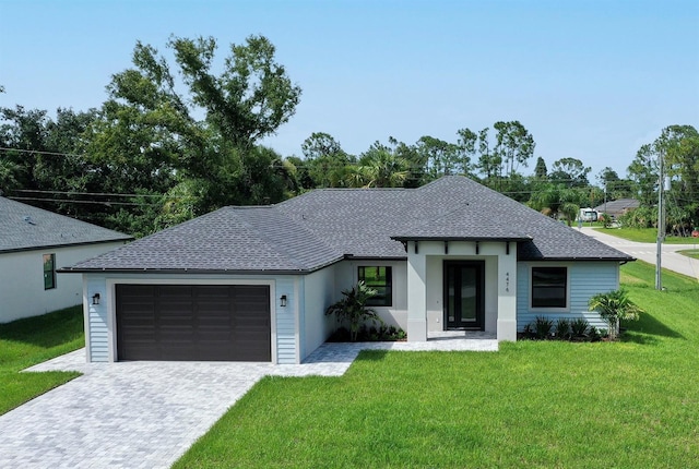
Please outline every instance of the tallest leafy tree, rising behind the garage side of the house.
[[[115, 74], [107, 87], [109, 99], [87, 145], [105, 187], [153, 196], [151, 205], [163, 212], [159, 221], [283, 200], [284, 188], [293, 185], [288, 168], [258, 142], [294, 115], [300, 88], [275, 62], [274, 46], [262, 36], [232, 45], [218, 74], [212, 72], [213, 38], [174, 36], [167, 46], [174, 63], [137, 43], [133, 68]], [[147, 232], [155, 229], [157, 212], [121, 214], [112, 218], [115, 228], [143, 218], [138, 230]]]

